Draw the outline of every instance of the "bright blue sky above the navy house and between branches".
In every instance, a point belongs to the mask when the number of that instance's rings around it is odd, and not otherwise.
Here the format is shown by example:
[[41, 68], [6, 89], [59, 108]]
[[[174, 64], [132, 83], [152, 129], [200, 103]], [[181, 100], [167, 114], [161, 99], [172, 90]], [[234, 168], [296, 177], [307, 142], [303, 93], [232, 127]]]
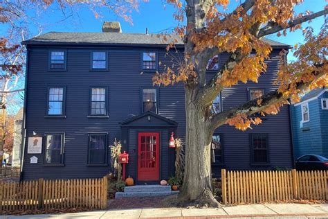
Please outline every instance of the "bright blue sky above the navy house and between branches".
[[[237, 0], [232, 0], [232, 4], [228, 10], [233, 10], [237, 4]], [[325, 0], [305, 0], [304, 3], [295, 8], [296, 12], [304, 12], [311, 10], [317, 12], [325, 7]], [[64, 12], [56, 10], [55, 6], [48, 8], [45, 13], [41, 15], [38, 22], [41, 22], [42, 33], [48, 31], [63, 31], [63, 32], [100, 32], [103, 21], [120, 21], [122, 30], [125, 33], [145, 33], [145, 28], [149, 29], [149, 33], [160, 33], [163, 30], [172, 29], [176, 26], [176, 21], [172, 17], [174, 8], [170, 5], [165, 5], [161, 0], [149, 0], [148, 3], [141, 3], [138, 12], [133, 12], [131, 17], [133, 25], [124, 21], [117, 15], [108, 10], [101, 10], [101, 17], [95, 18], [91, 10], [80, 7], [73, 13], [68, 8]], [[32, 12], [34, 13], [34, 12]], [[318, 33], [323, 24], [323, 17], [314, 19], [311, 24], [304, 24], [304, 26], [313, 26], [315, 33]], [[39, 33], [39, 28], [34, 24], [30, 24], [30, 29], [33, 34]], [[271, 40], [277, 40], [286, 44], [300, 44], [303, 42], [301, 30], [294, 33], [288, 33], [286, 37], [277, 37], [276, 35], [268, 36]], [[291, 53], [289, 53], [289, 60], [293, 60]]]

